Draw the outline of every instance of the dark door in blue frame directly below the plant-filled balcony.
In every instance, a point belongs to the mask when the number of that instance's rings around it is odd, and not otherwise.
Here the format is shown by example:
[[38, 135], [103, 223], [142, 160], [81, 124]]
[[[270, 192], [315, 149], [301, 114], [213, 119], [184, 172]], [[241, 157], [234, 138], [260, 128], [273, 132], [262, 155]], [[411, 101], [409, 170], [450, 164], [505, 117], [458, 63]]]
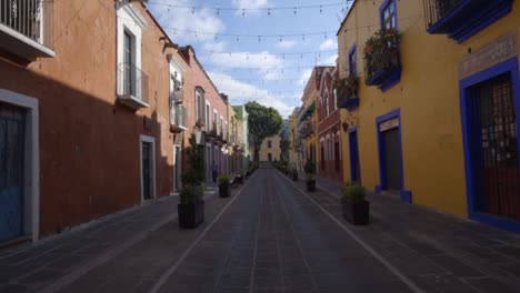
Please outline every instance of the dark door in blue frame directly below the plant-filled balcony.
[[384, 179], [387, 190], [401, 190], [401, 151], [399, 128], [382, 133], [384, 149]]

